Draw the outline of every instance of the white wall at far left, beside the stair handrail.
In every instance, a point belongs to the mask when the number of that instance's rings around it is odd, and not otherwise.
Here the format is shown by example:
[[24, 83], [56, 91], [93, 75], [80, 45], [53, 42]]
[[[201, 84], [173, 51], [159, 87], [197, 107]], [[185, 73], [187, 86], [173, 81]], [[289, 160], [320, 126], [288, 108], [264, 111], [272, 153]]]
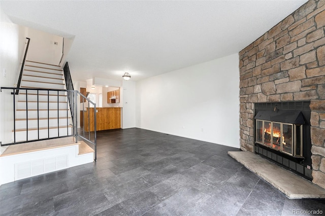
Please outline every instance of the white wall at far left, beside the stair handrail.
[[[12, 23], [3, 11], [0, 15], [0, 85], [14, 87], [20, 73], [26, 32], [24, 27]], [[5, 144], [13, 141], [13, 95], [10, 90], [0, 93], [0, 104], [0, 141]]]

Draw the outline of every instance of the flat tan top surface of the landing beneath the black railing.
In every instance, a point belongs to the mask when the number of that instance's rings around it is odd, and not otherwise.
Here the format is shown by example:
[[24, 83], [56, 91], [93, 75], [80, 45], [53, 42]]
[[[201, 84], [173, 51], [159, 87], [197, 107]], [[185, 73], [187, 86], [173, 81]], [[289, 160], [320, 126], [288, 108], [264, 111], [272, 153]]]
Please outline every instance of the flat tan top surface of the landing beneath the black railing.
[[17, 145], [9, 146], [0, 157], [9, 155], [17, 155], [28, 152], [36, 152], [47, 149], [60, 148], [65, 146], [79, 145], [76, 143], [74, 137], [63, 137], [56, 139], [47, 139], [35, 142], [25, 142]]

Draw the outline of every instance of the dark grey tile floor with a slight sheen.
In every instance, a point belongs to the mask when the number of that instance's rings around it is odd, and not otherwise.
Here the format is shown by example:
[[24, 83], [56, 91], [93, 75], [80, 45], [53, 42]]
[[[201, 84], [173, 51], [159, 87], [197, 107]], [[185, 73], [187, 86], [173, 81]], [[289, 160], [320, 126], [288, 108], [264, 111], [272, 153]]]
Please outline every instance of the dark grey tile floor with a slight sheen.
[[[228, 151], [143, 129], [98, 133], [98, 161], [0, 187], [1, 215], [292, 215], [290, 200]], [[319, 211], [318, 211], [319, 212]], [[312, 212], [305, 212], [305, 215]]]

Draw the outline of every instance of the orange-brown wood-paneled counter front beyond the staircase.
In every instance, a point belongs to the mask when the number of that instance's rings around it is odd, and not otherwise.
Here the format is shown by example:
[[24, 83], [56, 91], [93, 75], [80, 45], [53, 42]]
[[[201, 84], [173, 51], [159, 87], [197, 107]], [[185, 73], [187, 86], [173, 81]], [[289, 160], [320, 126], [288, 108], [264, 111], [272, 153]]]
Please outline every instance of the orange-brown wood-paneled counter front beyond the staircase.
[[[89, 120], [88, 120], [89, 109]], [[120, 107], [99, 107], [96, 108], [96, 130], [110, 130], [121, 128], [121, 108]], [[84, 112], [85, 131], [94, 131], [94, 109], [87, 108], [87, 112]]]

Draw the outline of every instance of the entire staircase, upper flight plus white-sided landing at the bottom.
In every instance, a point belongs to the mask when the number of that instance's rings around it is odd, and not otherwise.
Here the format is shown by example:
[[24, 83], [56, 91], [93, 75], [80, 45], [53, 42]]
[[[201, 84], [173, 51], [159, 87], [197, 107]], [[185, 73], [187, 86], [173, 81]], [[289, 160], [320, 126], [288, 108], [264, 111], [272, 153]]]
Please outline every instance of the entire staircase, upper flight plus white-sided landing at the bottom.
[[[26, 60], [19, 92], [2, 87], [15, 92], [9, 94], [10, 100], [14, 98], [15, 114], [13, 143], [0, 147], [0, 185], [96, 159], [95, 150], [86, 142], [76, 142], [67, 94], [80, 92], [68, 93], [65, 83], [59, 66]], [[75, 99], [70, 101], [72, 107]], [[95, 142], [93, 145], [96, 149]]]

